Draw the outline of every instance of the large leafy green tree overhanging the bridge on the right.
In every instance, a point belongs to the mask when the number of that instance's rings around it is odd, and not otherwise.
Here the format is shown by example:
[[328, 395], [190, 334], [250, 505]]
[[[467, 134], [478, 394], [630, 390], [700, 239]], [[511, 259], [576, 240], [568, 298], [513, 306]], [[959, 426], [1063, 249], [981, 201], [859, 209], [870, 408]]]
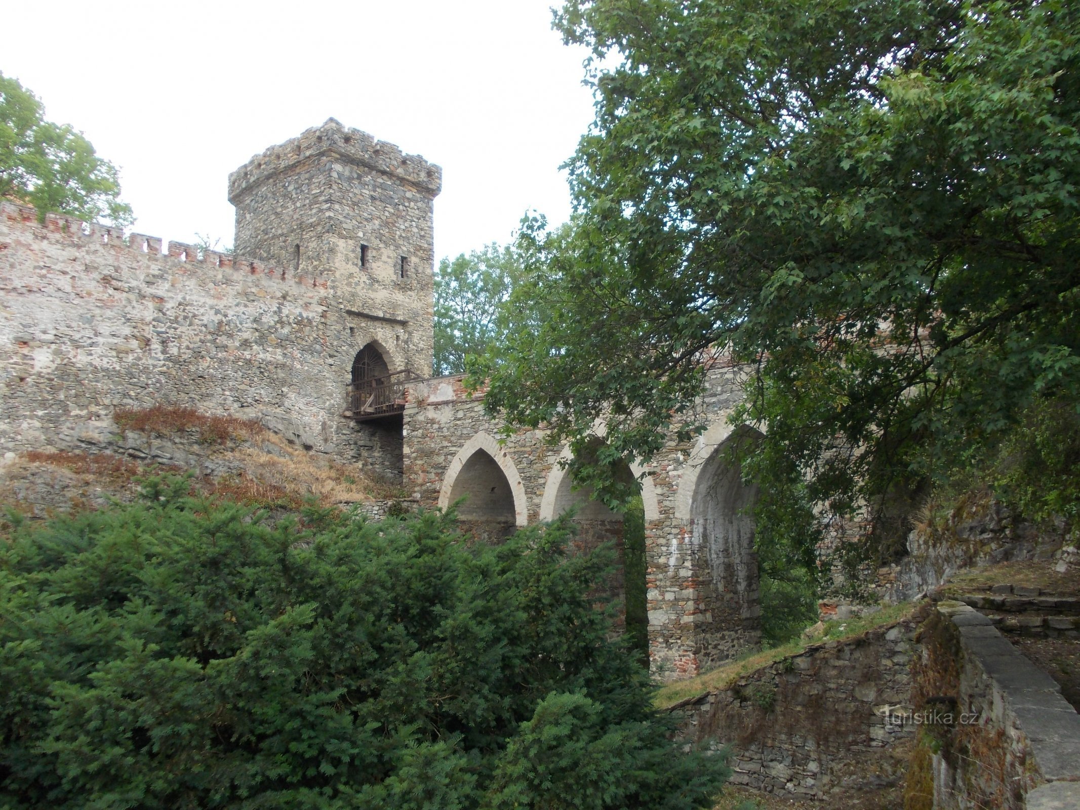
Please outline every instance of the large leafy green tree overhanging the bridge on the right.
[[739, 419], [768, 424], [759, 541], [804, 558], [1028, 408], [1076, 413], [1075, 3], [570, 0], [556, 25], [597, 118], [573, 232], [523, 234], [545, 270], [511, 302], [555, 316], [474, 367], [492, 411], [578, 445], [603, 416], [648, 458], [730, 353]]

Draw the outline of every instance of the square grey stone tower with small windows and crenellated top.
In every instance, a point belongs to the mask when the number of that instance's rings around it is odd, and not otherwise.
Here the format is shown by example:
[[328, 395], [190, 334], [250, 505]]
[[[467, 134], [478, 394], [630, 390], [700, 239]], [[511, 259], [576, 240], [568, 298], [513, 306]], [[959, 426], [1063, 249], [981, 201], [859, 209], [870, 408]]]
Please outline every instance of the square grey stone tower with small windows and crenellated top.
[[355, 342], [428, 376], [441, 187], [438, 166], [329, 119], [229, 175], [235, 252], [325, 283]]

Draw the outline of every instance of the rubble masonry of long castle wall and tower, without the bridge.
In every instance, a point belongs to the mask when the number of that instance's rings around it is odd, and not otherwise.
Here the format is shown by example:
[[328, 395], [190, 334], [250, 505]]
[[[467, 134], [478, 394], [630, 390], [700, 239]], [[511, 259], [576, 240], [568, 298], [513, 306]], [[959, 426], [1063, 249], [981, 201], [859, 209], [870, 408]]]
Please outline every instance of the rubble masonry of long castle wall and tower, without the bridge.
[[[167, 402], [400, 476], [400, 437], [343, 418], [345, 387], [369, 342], [391, 369], [430, 373], [440, 181], [330, 120], [232, 175], [238, 246], [254, 258], [3, 202], [0, 453], [68, 447], [117, 407]], [[357, 239], [363, 268], [347, 256]]]

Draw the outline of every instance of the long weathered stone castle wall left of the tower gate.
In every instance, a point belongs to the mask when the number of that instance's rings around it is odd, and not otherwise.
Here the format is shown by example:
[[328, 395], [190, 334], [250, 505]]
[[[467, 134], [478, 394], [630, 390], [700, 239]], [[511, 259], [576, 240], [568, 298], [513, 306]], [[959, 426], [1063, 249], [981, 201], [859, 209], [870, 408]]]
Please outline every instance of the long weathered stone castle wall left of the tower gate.
[[0, 314], [0, 453], [75, 446], [117, 407], [167, 402], [355, 457], [369, 440], [340, 417], [352, 360], [392, 341], [327, 280], [54, 215], [39, 224], [8, 202]]

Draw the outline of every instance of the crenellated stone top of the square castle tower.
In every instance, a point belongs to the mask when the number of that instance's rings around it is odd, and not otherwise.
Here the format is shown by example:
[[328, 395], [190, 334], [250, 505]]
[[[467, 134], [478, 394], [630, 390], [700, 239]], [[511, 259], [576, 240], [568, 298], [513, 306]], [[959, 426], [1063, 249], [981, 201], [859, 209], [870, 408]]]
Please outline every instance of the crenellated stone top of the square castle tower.
[[300, 136], [256, 154], [229, 175], [229, 202], [238, 205], [269, 177], [286, 173], [299, 163], [330, 156], [343, 163], [369, 168], [414, 186], [430, 198], [438, 194], [443, 170], [419, 154], [405, 154], [393, 144], [376, 140], [361, 130], [327, 119]]

